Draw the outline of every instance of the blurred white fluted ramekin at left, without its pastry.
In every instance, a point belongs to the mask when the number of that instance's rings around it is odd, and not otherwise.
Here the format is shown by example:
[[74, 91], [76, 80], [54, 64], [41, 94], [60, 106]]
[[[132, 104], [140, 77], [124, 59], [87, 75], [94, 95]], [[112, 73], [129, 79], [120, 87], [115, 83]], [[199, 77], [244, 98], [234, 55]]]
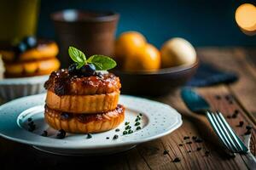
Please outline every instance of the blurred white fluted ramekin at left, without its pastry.
[[27, 95], [44, 93], [44, 82], [49, 79], [47, 76], [3, 78], [0, 80], [0, 99], [7, 102], [12, 99]]

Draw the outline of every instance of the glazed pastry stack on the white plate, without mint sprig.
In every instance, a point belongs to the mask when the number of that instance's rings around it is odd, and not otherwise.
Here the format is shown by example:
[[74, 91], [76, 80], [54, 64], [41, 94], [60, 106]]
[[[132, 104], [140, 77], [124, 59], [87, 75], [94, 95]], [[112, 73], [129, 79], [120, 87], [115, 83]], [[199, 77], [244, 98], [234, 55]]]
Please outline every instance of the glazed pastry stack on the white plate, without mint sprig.
[[67, 70], [54, 71], [47, 89], [44, 117], [50, 127], [68, 133], [99, 133], [124, 121], [125, 108], [119, 105], [119, 77], [73, 76]]

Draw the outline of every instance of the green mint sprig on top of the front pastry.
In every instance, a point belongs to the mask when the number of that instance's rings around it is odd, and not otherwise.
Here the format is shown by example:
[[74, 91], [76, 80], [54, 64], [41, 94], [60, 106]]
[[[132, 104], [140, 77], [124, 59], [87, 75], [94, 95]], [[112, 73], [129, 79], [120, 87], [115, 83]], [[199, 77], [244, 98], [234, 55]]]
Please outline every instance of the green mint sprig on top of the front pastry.
[[92, 64], [95, 65], [96, 71], [108, 71], [116, 66], [116, 62], [105, 55], [92, 55], [89, 59], [86, 59], [85, 54], [78, 48], [69, 47], [68, 54], [75, 63], [77, 63], [77, 69], [80, 69], [83, 65]]

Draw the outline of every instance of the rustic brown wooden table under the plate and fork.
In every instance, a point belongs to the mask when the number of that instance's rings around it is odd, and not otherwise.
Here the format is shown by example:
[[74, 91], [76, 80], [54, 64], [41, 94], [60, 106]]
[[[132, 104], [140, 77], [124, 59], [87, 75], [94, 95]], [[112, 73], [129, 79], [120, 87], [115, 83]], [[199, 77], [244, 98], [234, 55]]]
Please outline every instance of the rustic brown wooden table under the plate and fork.
[[[246, 126], [253, 126], [251, 150], [256, 152], [256, 49], [253, 48], [198, 48], [202, 61], [212, 63], [226, 71], [236, 71], [240, 80], [230, 85], [196, 88], [211, 103], [212, 109], [222, 111], [233, 129], [243, 138]], [[175, 132], [154, 141], [139, 144], [132, 150], [112, 156], [72, 157], [55, 156], [33, 149], [25, 144], [0, 139], [0, 169], [17, 165], [25, 168], [61, 169], [79, 166], [104, 169], [247, 169], [247, 158], [236, 154], [235, 158], [224, 156], [218, 147], [201, 132], [204, 123], [195, 123], [179, 97], [179, 90], [160, 100], [172, 105], [183, 115], [183, 125]], [[237, 110], [237, 116], [233, 116]], [[233, 116], [233, 117], [232, 117]], [[242, 127], [238, 127], [243, 121]], [[195, 125], [200, 125], [196, 127]], [[190, 139], [183, 139], [188, 136]], [[196, 143], [193, 136], [203, 139]], [[208, 139], [208, 140], [207, 140]], [[192, 143], [190, 144], [189, 141]], [[188, 144], [187, 144], [188, 143]], [[182, 146], [181, 146], [182, 145]], [[180, 161], [173, 162], [179, 157]]]

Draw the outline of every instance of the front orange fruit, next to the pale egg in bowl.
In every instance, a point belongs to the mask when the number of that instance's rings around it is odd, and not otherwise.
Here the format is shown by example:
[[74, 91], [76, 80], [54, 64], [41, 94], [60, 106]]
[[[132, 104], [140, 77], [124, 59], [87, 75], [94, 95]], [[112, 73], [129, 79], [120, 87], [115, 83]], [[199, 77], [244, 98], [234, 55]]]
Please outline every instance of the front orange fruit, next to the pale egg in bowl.
[[146, 44], [135, 54], [127, 57], [125, 71], [157, 71], [160, 69], [160, 52], [152, 44]]

